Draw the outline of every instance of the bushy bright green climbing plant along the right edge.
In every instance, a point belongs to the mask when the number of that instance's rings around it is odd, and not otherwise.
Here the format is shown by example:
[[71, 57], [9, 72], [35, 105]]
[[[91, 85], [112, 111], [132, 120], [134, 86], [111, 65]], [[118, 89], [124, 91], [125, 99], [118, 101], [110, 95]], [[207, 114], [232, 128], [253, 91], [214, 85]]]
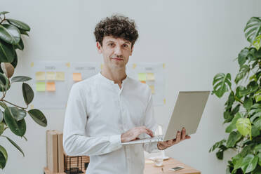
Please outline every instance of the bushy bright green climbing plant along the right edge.
[[261, 18], [248, 20], [244, 29], [248, 48], [238, 55], [239, 73], [232, 90], [231, 74], [216, 74], [213, 93], [221, 98], [229, 92], [225, 102], [224, 123], [229, 137], [216, 142], [209, 152], [216, 152], [223, 159], [227, 149], [235, 149], [236, 156], [228, 161], [227, 173], [261, 173]]

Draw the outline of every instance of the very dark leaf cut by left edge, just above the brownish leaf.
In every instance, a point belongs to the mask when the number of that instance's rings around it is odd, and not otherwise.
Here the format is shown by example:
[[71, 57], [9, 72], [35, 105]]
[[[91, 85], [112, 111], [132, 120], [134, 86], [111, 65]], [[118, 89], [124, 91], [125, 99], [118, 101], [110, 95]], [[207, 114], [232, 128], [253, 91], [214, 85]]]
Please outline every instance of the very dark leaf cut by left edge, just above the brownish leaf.
[[15, 49], [13, 46], [0, 39], [0, 62], [13, 62], [14, 59]]

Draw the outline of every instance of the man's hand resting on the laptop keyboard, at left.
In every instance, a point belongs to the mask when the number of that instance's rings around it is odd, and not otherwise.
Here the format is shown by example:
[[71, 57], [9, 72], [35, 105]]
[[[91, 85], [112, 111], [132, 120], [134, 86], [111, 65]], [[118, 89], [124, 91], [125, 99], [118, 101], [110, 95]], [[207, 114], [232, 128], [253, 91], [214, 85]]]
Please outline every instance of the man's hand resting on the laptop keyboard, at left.
[[153, 132], [146, 128], [145, 126], [135, 127], [128, 130], [126, 133], [121, 134], [121, 142], [129, 142], [132, 140], [139, 139], [138, 136], [142, 133], [147, 133], [147, 135], [154, 137]]

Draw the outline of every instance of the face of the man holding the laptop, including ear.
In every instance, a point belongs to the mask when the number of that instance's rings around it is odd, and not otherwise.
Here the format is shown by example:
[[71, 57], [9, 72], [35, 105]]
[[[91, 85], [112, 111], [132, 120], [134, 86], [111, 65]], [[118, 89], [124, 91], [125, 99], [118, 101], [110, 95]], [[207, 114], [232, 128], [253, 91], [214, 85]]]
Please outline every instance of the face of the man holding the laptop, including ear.
[[102, 53], [105, 66], [110, 69], [122, 69], [126, 67], [128, 58], [133, 53], [131, 42], [121, 38], [105, 36], [102, 46], [97, 42], [98, 53]]

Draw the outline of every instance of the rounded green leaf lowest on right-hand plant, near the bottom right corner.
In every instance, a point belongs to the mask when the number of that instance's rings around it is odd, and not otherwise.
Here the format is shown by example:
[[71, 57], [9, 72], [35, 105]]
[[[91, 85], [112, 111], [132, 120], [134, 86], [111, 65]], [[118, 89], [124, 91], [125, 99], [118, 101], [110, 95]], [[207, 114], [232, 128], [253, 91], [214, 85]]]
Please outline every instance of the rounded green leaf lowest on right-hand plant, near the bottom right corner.
[[253, 154], [248, 154], [242, 161], [242, 170], [244, 173], [249, 173], [257, 166], [258, 157]]

